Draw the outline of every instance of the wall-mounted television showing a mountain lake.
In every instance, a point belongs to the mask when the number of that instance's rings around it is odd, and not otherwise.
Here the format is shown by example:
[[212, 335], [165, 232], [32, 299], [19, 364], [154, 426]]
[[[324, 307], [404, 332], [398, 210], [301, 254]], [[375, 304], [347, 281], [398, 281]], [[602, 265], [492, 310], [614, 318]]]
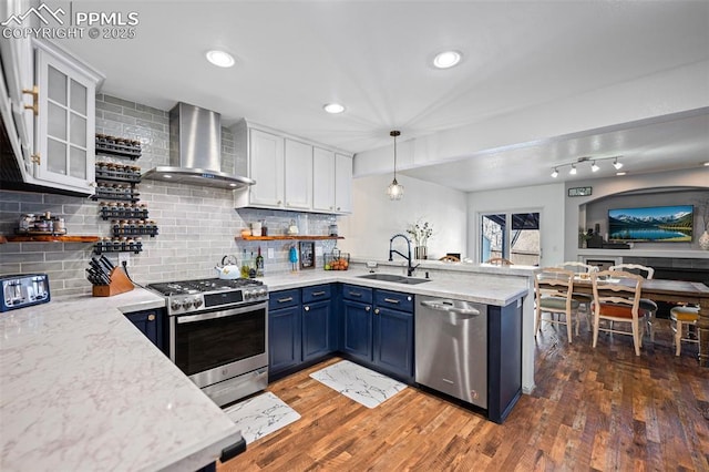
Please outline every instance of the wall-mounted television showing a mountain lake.
[[609, 209], [608, 239], [691, 243], [693, 212], [692, 205]]

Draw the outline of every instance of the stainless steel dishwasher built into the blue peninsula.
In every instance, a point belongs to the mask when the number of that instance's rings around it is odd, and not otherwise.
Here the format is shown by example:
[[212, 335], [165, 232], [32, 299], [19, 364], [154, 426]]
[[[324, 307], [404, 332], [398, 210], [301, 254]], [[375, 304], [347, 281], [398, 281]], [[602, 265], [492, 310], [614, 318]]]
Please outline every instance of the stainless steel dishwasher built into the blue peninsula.
[[417, 296], [415, 381], [487, 408], [487, 306]]

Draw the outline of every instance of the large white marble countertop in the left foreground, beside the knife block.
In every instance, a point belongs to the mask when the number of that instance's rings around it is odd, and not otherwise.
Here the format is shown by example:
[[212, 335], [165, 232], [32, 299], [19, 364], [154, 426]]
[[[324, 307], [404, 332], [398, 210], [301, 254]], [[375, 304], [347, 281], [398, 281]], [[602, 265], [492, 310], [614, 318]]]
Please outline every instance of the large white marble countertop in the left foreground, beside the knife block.
[[136, 288], [0, 314], [0, 470], [194, 471], [242, 435], [123, 312]]

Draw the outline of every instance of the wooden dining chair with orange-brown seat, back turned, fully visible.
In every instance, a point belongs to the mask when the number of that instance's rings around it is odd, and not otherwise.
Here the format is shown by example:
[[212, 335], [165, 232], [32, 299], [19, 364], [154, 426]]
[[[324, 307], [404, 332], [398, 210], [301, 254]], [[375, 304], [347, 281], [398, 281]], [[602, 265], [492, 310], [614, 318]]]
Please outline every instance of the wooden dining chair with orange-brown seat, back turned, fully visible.
[[[643, 277], [624, 270], [600, 270], [590, 274], [594, 290], [594, 341], [596, 348], [598, 331], [633, 336], [635, 355], [640, 356], [645, 322], [640, 315], [640, 291]], [[600, 321], [609, 321], [602, 327]], [[616, 324], [628, 324], [630, 330], [616, 329]]]

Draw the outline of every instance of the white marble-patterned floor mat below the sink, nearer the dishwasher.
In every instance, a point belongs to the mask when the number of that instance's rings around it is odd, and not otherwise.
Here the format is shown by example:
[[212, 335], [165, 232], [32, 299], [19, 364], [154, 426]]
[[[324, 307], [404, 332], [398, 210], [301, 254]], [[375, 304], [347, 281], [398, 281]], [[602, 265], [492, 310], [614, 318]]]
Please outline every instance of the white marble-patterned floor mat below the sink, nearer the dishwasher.
[[367, 408], [374, 408], [407, 388], [405, 383], [349, 360], [312, 372], [310, 377]]

